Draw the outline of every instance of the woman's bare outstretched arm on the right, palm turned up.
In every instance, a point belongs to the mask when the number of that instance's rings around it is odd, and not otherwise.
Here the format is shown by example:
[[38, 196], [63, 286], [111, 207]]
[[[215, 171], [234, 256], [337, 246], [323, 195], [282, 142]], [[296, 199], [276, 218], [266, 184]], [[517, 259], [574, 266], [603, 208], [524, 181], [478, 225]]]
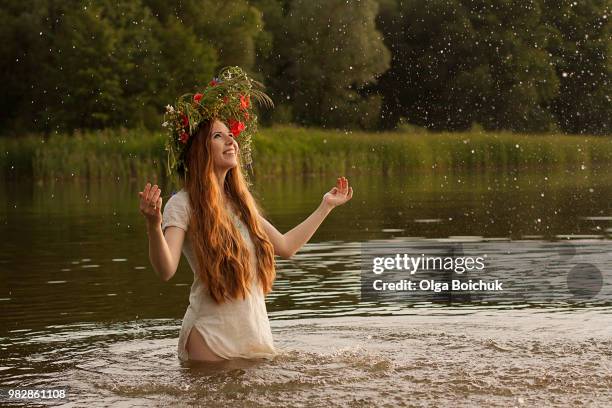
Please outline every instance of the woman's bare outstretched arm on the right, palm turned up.
[[323, 196], [319, 207], [302, 223], [291, 231], [281, 234], [268, 220], [259, 215], [259, 220], [268, 238], [274, 246], [274, 252], [282, 258], [291, 258], [305, 243], [310, 240], [325, 217], [332, 209], [344, 204], [353, 197], [353, 188], [348, 186], [348, 180], [339, 177], [336, 187]]

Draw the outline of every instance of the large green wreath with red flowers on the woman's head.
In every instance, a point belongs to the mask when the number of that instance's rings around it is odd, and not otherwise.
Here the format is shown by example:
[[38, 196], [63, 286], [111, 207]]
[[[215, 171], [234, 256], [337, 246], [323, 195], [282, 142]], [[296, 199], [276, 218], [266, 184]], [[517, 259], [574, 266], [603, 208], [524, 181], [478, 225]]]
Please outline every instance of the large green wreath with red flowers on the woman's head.
[[257, 131], [257, 115], [251, 97], [259, 104], [274, 103], [261, 89], [263, 85], [247, 76], [240, 67], [223, 68], [208, 86], [197, 93], [181, 95], [175, 106], [167, 105], [162, 124], [168, 130], [168, 175], [174, 170], [187, 173], [186, 153], [201, 123], [219, 119], [227, 124], [239, 146], [240, 163], [248, 182], [252, 169], [251, 137]]

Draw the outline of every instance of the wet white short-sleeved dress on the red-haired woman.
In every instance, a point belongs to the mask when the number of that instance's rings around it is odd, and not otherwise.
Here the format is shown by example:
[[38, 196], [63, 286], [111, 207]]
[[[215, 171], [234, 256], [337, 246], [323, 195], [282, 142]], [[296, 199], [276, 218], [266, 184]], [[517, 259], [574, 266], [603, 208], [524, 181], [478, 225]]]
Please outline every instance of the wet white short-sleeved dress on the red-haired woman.
[[[256, 271], [256, 255], [248, 228], [232, 210], [228, 210], [249, 248], [253, 273]], [[169, 226], [187, 231], [190, 214], [189, 195], [181, 189], [168, 199], [164, 207], [162, 231]], [[208, 347], [222, 358], [274, 357], [276, 350], [258, 279], [251, 279], [251, 294], [247, 294], [246, 299], [240, 297], [216, 304], [196, 273], [197, 259], [188, 234], [185, 234], [182, 253], [189, 262], [194, 279], [179, 335], [178, 358], [183, 361], [189, 359], [186, 344], [192, 327], [200, 332]]]

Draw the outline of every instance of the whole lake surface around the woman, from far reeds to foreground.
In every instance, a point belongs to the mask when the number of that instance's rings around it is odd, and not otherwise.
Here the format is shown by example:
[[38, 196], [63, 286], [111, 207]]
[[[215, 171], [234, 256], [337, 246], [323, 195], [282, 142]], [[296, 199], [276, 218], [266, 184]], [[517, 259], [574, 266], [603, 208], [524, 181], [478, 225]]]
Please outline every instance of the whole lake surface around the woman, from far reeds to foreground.
[[[595, 257], [585, 262], [609, 264], [612, 173], [348, 176], [353, 200], [293, 259], [277, 259], [267, 307], [279, 356], [217, 367], [176, 357], [193, 276], [182, 260], [170, 282], [156, 279], [140, 185], [0, 184], [1, 384], [66, 385], [79, 405], [605, 406], [607, 268], [582, 304], [448, 307], [362, 301], [360, 254], [364, 242], [423, 238], [520, 239], [558, 254], [550, 241], [571, 239]], [[287, 231], [333, 180], [256, 181], [256, 196]]]

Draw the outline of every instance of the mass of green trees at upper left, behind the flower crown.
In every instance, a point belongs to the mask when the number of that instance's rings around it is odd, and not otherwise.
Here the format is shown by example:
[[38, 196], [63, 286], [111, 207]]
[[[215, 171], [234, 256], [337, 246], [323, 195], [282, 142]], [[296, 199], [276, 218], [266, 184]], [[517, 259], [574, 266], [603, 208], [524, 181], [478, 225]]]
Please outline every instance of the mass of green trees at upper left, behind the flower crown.
[[6, 3], [4, 133], [159, 129], [163, 106], [208, 83], [221, 63], [250, 68], [261, 30], [245, 1]]

